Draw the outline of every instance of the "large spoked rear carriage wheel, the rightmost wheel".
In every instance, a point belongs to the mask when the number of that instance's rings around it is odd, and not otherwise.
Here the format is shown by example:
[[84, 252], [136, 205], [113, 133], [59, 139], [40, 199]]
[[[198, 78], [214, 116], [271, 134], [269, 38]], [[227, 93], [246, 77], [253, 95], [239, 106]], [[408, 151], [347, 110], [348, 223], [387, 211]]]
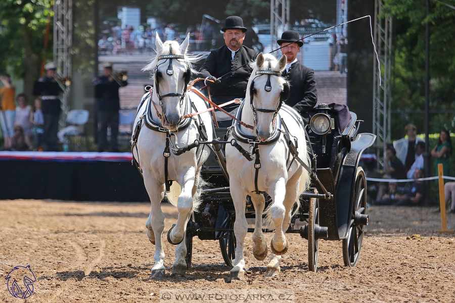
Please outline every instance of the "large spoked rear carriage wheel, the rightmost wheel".
[[[363, 218], [358, 219], [361, 215]], [[354, 183], [353, 206], [348, 235], [343, 242], [343, 261], [345, 266], [355, 267], [362, 247], [363, 228], [368, 223], [367, 180], [361, 167], [357, 168]]]

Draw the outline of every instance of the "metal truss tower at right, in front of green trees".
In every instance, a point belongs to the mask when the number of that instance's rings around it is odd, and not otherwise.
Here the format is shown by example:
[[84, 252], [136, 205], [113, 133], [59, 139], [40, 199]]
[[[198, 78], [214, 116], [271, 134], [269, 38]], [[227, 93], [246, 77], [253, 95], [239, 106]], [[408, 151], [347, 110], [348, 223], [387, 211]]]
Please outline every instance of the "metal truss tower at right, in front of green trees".
[[[382, 166], [386, 144], [390, 142], [390, 79], [392, 62], [392, 18], [383, 14], [383, 0], [375, 1], [374, 40], [379, 55], [379, 67], [374, 58], [373, 70], [373, 133], [377, 136], [376, 156]], [[381, 70], [381, 75], [379, 74]], [[382, 151], [382, 153], [381, 153]]]

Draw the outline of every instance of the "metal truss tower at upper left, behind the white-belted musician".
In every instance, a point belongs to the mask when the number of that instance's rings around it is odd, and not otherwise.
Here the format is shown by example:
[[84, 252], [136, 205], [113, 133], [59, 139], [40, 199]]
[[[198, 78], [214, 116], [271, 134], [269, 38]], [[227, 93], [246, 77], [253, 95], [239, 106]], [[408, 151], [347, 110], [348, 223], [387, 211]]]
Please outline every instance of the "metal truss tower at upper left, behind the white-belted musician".
[[[73, 44], [73, 2], [56, 0], [54, 3], [54, 63], [57, 65], [57, 77], [71, 78], [71, 46]], [[70, 86], [62, 96], [63, 126], [69, 110]]]

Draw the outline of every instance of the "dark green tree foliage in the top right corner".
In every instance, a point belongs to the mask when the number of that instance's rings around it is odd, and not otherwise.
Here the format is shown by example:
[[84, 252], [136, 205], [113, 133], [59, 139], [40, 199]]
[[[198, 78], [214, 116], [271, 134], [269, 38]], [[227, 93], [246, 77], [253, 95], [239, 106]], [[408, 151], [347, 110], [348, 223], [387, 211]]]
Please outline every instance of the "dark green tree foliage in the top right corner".
[[[444, 0], [455, 5], [455, 0]], [[385, 0], [394, 17], [392, 108], [423, 109], [425, 104], [425, 25], [430, 23], [430, 109], [455, 106], [455, 10], [426, 0]]]

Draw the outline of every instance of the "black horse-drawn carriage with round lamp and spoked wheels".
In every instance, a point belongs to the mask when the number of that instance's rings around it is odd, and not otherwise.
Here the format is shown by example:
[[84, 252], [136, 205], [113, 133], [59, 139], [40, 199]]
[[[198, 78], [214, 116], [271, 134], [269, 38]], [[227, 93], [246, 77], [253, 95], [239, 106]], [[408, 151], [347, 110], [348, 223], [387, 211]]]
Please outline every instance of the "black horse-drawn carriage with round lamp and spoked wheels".
[[[346, 107], [340, 110], [337, 105], [321, 104], [308, 114], [308, 120], [311, 189], [301, 194], [300, 210], [286, 232], [298, 233], [308, 240], [311, 271], [317, 270], [319, 239], [341, 240], [344, 265], [354, 267], [360, 255], [363, 230], [368, 224], [366, 178], [359, 159], [376, 136], [358, 133], [362, 121]], [[215, 129], [221, 141], [225, 141], [227, 131], [225, 128]], [[214, 155], [204, 164], [202, 176], [213, 186], [200, 189], [203, 193], [201, 209], [194, 213], [187, 226], [187, 266], [191, 266], [193, 237], [197, 235], [201, 240], [218, 240], [225, 264], [232, 267], [236, 247], [235, 209], [229, 180]], [[245, 213], [247, 218], [255, 217], [249, 197]], [[297, 220], [307, 224], [294, 229]], [[253, 231], [253, 228], [248, 228], [248, 232]], [[272, 230], [263, 229], [263, 232]]]

